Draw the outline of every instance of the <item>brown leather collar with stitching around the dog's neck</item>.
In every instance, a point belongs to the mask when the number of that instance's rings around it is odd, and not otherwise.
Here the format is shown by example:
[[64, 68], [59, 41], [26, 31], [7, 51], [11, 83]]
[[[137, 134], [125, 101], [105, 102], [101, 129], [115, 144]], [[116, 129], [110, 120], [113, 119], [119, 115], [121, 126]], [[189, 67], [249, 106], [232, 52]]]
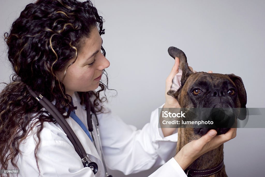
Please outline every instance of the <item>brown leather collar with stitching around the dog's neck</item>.
[[213, 175], [215, 173], [217, 173], [218, 171], [220, 171], [224, 166], [224, 160], [222, 160], [222, 162], [220, 162], [217, 166], [211, 168], [211, 169], [206, 169], [206, 170], [193, 170], [193, 169], [186, 169], [185, 173], [186, 175], [192, 176], [192, 177], [196, 177], [196, 176], [210, 176]]

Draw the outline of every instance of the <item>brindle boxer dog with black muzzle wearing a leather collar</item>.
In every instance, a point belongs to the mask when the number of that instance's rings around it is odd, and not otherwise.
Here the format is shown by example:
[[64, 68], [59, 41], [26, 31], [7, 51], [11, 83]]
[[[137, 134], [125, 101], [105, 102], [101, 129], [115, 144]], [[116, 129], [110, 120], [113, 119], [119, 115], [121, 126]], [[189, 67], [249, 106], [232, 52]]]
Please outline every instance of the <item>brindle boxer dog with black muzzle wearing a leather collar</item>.
[[[246, 108], [246, 90], [240, 77], [234, 74], [194, 73], [189, 69], [186, 55], [182, 50], [170, 47], [168, 52], [171, 57], [174, 59], [178, 57], [180, 60], [181, 87], [176, 89], [173, 79], [171, 89], [167, 92], [178, 100], [180, 107]], [[246, 110], [240, 109], [238, 118], [241, 120], [245, 118], [244, 111]], [[199, 139], [210, 129], [213, 128], [179, 128], [177, 153], [185, 144]], [[215, 129], [217, 135], [229, 130], [229, 128]], [[197, 158], [185, 172], [188, 176], [227, 176], [223, 165], [223, 144]]]

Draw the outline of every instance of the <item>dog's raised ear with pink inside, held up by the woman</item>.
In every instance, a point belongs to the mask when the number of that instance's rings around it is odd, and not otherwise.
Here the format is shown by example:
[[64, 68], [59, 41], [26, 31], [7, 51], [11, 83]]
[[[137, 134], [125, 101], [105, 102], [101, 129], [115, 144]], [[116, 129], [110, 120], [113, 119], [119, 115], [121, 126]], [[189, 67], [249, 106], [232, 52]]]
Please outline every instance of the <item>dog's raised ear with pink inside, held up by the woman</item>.
[[180, 83], [178, 83], [179, 78], [177, 75], [173, 78], [171, 88], [167, 92], [167, 94], [173, 96], [180, 102], [180, 100], [178, 99], [178, 96], [181, 92], [182, 86], [184, 85], [185, 81], [188, 79], [189, 75], [192, 74], [192, 71], [189, 69], [189, 66], [187, 63], [187, 57], [182, 50], [175, 48], [175, 47], [170, 47], [168, 48], [168, 53], [174, 59], [175, 57], [179, 58], [179, 67], [182, 70], [182, 76], [180, 79]]

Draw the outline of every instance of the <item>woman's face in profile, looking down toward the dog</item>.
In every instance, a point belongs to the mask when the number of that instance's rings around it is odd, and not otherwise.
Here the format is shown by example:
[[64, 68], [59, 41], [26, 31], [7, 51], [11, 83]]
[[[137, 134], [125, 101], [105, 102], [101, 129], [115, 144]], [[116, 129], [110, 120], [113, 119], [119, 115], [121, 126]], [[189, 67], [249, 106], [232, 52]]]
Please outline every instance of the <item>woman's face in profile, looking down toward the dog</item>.
[[[74, 92], [87, 92], [98, 88], [102, 72], [110, 64], [101, 53], [102, 39], [98, 28], [94, 27], [91, 30], [90, 37], [83, 41], [84, 44], [81, 50], [78, 51], [76, 61], [68, 67], [63, 80], [66, 93], [70, 96]], [[70, 60], [69, 64], [72, 61], [73, 59]], [[56, 73], [56, 76], [61, 81], [64, 71]]]

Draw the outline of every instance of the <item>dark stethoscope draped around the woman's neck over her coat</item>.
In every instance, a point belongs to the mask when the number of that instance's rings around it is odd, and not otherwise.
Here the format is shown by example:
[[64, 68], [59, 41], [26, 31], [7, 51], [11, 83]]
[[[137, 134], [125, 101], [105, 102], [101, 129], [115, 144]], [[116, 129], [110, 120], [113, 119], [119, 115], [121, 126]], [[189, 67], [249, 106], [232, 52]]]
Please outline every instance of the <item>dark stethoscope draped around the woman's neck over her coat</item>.
[[[98, 172], [97, 163], [96, 162], [92, 162], [92, 160], [89, 158], [89, 156], [86, 153], [84, 147], [82, 146], [80, 140], [77, 138], [77, 136], [74, 133], [73, 129], [70, 127], [70, 125], [64, 119], [63, 115], [61, 115], [59, 113], [57, 108], [47, 98], [45, 98], [41, 94], [37, 95], [35, 92], [33, 92], [33, 90], [31, 90], [29, 88], [28, 85], [26, 85], [26, 86], [27, 86], [27, 89], [29, 90], [29, 92], [32, 94], [32, 96], [38, 100], [38, 102], [48, 111], [48, 113], [51, 114], [51, 116], [61, 126], [61, 128], [63, 129], [63, 131], [67, 135], [68, 139], [73, 144], [74, 149], [76, 150], [77, 154], [80, 156], [84, 167], [90, 167], [92, 169], [93, 173], [96, 174]], [[101, 139], [100, 139], [100, 134], [99, 134], [98, 116], [95, 113], [94, 107], [90, 105], [90, 102], [85, 103], [85, 105], [86, 105], [86, 113], [87, 113], [88, 130], [91, 132], [93, 143], [94, 143], [94, 145], [96, 147], [96, 150], [98, 151], [98, 153], [99, 153], [99, 151], [101, 151], [101, 156], [102, 156], [102, 160], [103, 160], [103, 165], [104, 165], [104, 169], [105, 169], [105, 172], [106, 172], [106, 176], [107, 177], [112, 177], [112, 175], [108, 175], [107, 165], [106, 165], [106, 162], [105, 162], [105, 158], [103, 156], [103, 151], [102, 151], [102, 146], [101, 146]], [[95, 141], [95, 135], [94, 135], [93, 124], [92, 124], [92, 113], [95, 115], [95, 118], [96, 118], [95, 127], [96, 127], [96, 133], [97, 133], [98, 140], [99, 140], [99, 147], [98, 147], [98, 145], [96, 144], [96, 141]]]

